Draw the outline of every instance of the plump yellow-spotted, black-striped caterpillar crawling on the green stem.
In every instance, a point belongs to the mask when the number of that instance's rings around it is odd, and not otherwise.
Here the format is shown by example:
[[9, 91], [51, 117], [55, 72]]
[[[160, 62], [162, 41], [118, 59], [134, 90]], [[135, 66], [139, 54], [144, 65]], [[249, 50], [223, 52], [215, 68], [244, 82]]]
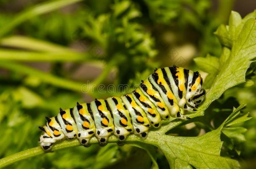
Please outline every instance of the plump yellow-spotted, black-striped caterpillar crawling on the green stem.
[[150, 127], [160, 127], [170, 116], [190, 119], [183, 115], [184, 110], [196, 111], [205, 94], [199, 72], [177, 66], [158, 68], [131, 93], [60, 108], [57, 116], [46, 117], [47, 124], [39, 127], [44, 131], [39, 143], [49, 150], [63, 139], [77, 138], [89, 146], [94, 135], [101, 146], [107, 144], [111, 134], [120, 141], [131, 133], [144, 139]]

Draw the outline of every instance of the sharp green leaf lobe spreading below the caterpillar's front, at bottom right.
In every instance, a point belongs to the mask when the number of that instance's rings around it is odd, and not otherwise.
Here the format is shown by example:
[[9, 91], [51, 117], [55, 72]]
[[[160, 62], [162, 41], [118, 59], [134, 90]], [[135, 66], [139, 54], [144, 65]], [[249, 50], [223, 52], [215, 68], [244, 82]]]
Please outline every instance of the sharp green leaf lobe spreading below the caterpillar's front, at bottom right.
[[[218, 129], [197, 137], [168, 136], [164, 129], [149, 133], [145, 142], [159, 147], [169, 161], [170, 168], [240, 168], [238, 161], [220, 156], [220, 134], [227, 121], [240, 113], [239, 106]], [[159, 139], [161, 138], [161, 139]]]

